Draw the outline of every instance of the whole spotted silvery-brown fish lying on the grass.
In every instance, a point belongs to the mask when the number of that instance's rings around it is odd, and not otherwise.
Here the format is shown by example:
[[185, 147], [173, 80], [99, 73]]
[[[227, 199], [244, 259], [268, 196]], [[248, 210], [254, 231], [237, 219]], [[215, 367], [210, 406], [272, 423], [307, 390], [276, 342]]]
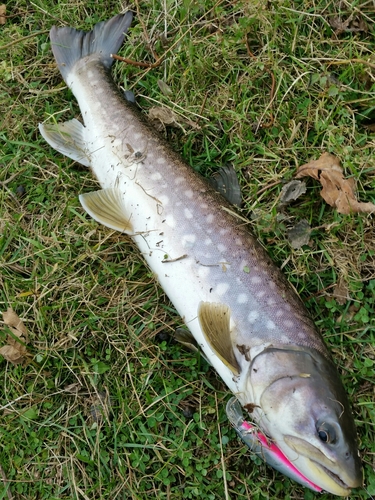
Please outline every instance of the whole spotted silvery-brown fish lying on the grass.
[[[282, 453], [281, 470], [294, 467], [291, 477], [301, 484], [346, 496], [362, 485], [361, 460], [348, 398], [323, 337], [234, 205], [118, 91], [111, 54], [131, 22], [126, 12], [89, 32], [51, 28], [57, 66], [83, 123], [47, 121], [40, 133], [91, 168], [100, 189], [81, 193], [82, 207], [136, 243], [259, 436]], [[244, 436], [244, 421], [235, 420]], [[266, 461], [278, 463], [278, 452], [263, 451]]]

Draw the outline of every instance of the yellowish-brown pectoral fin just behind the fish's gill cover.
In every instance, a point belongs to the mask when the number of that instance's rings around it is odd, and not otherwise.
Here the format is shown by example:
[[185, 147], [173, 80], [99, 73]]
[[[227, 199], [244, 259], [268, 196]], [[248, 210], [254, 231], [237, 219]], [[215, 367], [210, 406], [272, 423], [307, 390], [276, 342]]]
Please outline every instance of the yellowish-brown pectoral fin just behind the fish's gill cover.
[[226, 304], [201, 302], [198, 319], [211, 349], [234, 375], [239, 375], [241, 369], [234, 355], [230, 334], [230, 308]]

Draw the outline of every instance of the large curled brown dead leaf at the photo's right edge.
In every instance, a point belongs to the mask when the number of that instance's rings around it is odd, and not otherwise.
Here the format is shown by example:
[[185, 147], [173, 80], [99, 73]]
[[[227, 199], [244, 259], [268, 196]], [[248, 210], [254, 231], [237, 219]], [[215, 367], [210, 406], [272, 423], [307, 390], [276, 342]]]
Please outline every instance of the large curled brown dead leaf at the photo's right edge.
[[323, 153], [318, 160], [298, 168], [296, 178], [312, 177], [322, 185], [320, 196], [328, 205], [337, 209], [340, 214], [356, 212], [373, 213], [373, 203], [357, 201], [355, 194], [355, 180], [351, 177], [344, 179], [340, 160], [330, 153]]

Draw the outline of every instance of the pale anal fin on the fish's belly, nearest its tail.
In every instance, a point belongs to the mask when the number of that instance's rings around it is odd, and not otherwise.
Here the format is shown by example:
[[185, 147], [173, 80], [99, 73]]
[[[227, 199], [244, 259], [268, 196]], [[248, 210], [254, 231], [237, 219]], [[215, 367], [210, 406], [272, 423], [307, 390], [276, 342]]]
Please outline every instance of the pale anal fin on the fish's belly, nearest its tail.
[[85, 127], [73, 118], [64, 123], [39, 123], [39, 131], [56, 151], [78, 161], [85, 167], [90, 166], [89, 151], [85, 141]]

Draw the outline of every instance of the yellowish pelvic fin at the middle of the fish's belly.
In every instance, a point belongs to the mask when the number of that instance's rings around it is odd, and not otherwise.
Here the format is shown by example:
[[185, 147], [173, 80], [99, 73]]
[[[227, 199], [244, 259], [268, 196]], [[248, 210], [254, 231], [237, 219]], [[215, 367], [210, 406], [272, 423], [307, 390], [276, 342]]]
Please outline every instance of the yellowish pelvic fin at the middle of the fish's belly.
[[104, 226], [132, 234], [131, 214], [127, 213], [121, 191], [116, 188], [101, 189], [79, 196], [81, 205], [93, 219]]

